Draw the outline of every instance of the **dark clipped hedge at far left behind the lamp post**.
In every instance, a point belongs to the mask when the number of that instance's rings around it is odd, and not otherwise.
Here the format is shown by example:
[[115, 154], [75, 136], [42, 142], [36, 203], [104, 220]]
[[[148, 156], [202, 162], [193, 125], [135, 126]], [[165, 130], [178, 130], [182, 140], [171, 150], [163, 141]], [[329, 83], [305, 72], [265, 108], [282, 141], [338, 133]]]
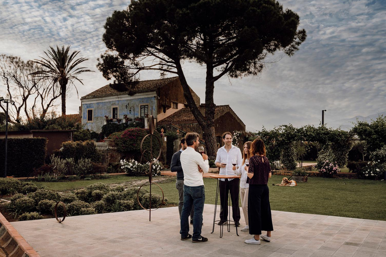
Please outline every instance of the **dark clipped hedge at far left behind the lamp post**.
[[[33, 169], [44, 164], [46, 138], [8, 139], [7, 176], [32, 176]], [[5, 139], [0, 139], [0, 163], [5, 160]], [[4, 176], [4, 165], [0, 165], [0, 176]]]

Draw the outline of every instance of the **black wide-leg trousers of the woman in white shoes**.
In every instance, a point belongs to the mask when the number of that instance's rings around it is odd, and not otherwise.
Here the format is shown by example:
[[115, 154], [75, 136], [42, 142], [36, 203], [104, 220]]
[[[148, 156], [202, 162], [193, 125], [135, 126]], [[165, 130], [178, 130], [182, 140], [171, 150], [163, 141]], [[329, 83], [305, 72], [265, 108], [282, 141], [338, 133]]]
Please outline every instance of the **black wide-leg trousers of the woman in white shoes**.
[[261, 235], [261, 230], [273, 230], [267, 185], [249, 184], [248, 223], [251, 235]]

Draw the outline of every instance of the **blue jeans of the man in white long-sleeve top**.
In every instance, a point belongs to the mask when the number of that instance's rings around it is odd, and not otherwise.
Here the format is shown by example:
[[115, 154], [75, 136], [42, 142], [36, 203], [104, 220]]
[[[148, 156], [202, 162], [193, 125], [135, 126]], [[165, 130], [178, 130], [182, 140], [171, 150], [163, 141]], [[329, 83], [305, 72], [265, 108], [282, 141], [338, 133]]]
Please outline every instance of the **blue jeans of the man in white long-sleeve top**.
[[193, 216], [193, 235], [192, 239], [201, 238], [201, 227], [203, 225], [203, 211], [205, 202], [204, 185], [197, 187], [189, 187], [183, 185], [183, 207], [181, 212], [181, 237], [185, 237], [189, 233], [189, 213], [191, 208], [194, 208]]

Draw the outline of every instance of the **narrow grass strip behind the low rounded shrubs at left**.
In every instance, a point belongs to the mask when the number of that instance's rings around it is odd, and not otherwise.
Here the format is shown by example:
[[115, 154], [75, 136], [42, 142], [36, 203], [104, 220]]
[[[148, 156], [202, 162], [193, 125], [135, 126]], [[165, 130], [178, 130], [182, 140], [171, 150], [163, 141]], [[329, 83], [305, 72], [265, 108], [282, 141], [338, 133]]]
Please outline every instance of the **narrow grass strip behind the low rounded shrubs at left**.
[[106, 184], [117, 184], [124, 183], [134, 180], [147, 179], [148, 177], [129, 177], [127, 175], [115, 175], [111, 176], [108, 179], [92, 179], [92, 180], [77, 180], [77, 181], [65, 181], [65, 182], [34, 182], [39, 188], [46, 187], [49, 190], [55, 191], [71, 191], [79, 188], [86, 187], [91, 184], [95, 184], [98, 182], [106, 183]]

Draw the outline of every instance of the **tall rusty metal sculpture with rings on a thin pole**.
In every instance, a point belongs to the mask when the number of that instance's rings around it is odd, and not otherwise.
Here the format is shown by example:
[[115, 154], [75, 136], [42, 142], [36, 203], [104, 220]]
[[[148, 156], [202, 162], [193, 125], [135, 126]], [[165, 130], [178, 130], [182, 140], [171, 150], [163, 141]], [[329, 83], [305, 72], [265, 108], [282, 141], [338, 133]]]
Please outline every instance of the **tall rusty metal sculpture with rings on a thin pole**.
[[[153, 157], [153, 134], [154, 134], [154, 130], [155, 130], [155, 122], [154, 122], [153, 113], [152, 113], [152, 115], [149, 116], [149, 122], [148, 122], [148, 123], [149, 123], [149, 131], [150, 131], [150, 134], [146, 135], [146, 136], [142, 139], [142, 141], [141, 141], [141, 163], [142, 163], [142, 159], [149, 162], [149, 182], [146, 182], [146, 183], [142, 184], [142, 185], [138, 188], [138, 191], [137, 191], [137, 201], [138, 201], [139, 205], [140, 205], [143, 209], [149, 211], [149, 221], [151, 221], [151, 185], [152, 185], [152, 184], [155, 184], [155, 185], [157, 185], [157, 186], [159, 187], [159, 189], [161, 190], [161, 192], [162, 192], [162, 201], [161, 201], [161, 204], [164, 203], [164, 202], [163, 202], [163, 200], [164, 200], [164, 194], [163, 194], [162, 188], [161, 188], [157, 183], [152, 182], [152, 180], [153, 180], [153, 170], [152, 170], [152, 168], [153, 168], [153, 162], [158, 161], [159, 157], [161, 156], [161, 147], [162, 147], [161, 141], [159, 140], [159, 138], [158, 138], [158, 137], [155, 137], [155, 138], [158, 140], [158, 144], [159, 144], [159, 153], [158, 153], [157, 158], [154, 158], [154, 157]], [[145, 139], [146, 139], [147, 137], [149, 137], [149, 136], [150, 136], [150, 149], [144, 149], [143, 142], [144, 142]], [[146, 153], [147, 153], [147, 155], [150, 156], [150, 160], [147, 160], [147, 158], [146, 158], [146, 156], [147, 156]], [[146, 209], [145, 207], [143, 207], [143, 205], [141, 204], [141, 202], [140, 202], [140, 200], [139, 200], [139, 191], [140, 191], [141, 188], [142, 188], [144, 185], [146, 185], [147, 183], [149, 183], [149, 186], [150, 186], [149, 209]], [[159, 207], [158, 207], [158, 208], [159, 208]], [[156, 208], [156, 209], [158, 209], [158, 208]], [[154, 209], [154, 210], [156, 210], [156, 209]]]

